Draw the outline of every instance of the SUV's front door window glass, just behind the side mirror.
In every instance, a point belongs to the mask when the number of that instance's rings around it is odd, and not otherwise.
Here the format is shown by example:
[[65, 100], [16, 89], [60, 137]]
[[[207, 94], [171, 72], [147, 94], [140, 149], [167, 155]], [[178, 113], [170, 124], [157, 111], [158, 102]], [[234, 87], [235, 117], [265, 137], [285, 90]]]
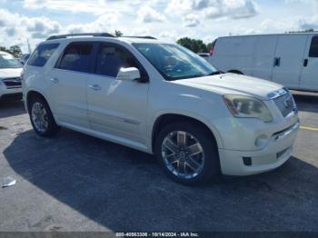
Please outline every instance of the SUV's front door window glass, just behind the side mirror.
[[101, 45], [96, 62], [96, 74], [116, 77], [120, 68], [136, 67], [133, 55], [114, 45]]

